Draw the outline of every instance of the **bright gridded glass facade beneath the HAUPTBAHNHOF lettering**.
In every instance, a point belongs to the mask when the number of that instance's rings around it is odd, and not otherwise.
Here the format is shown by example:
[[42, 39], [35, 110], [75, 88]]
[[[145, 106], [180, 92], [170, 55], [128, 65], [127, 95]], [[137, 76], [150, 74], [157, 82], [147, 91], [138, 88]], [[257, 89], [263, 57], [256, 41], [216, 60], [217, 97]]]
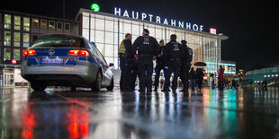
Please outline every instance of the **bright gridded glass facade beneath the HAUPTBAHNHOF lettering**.
[[[99, 13], [81, 13], [82, 36], [94, 41], [108, 63], [118, 67], [118, 47], [126, 33], [131, 33], [132, 42], [141, 35], [143, 29], [149, 30], [149, 35], [157, 41], [170, 40], [171, 34], [176, 34], [177, 41], [185, 39], [188, 47], [193, 48], [194, 62], [220, 63], [220, 38], [197, 31], [177, 29], [172, 26], [158, 25], [152, 22], [128, 20], [119, 16], [102, 15]], [[206, 68], [206, 67], [205, 67]], [[207, 70], [217, 71], [217, 66]]]

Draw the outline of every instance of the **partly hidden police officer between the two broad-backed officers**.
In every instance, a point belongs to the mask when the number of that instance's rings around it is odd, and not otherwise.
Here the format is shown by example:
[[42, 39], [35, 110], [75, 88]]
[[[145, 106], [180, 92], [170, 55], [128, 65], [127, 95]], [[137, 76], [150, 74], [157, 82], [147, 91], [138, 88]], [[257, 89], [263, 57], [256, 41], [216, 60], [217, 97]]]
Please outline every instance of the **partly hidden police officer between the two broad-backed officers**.
[[157, 91], [157, 86], [158, 86], [158, 83], [159, 83], [159, 77], [160, 77], [160, 73], [161, 73], [161, 70], [164, 70], [164, 67], [165, 67], [165, 64], [164, 64], [164, 58], [163, 58], [163, 49], [165, 47], [165, 43], [164, 43], [164, 40], [161, 39], [159, 41], [159, 46], [160, 46], [160, 49], [159, 49], [159, 55], [157, 55], [157, 58], [156, 58], [156, 67], [155, 67], [155, 83], [154, 83], [154, 91]]

